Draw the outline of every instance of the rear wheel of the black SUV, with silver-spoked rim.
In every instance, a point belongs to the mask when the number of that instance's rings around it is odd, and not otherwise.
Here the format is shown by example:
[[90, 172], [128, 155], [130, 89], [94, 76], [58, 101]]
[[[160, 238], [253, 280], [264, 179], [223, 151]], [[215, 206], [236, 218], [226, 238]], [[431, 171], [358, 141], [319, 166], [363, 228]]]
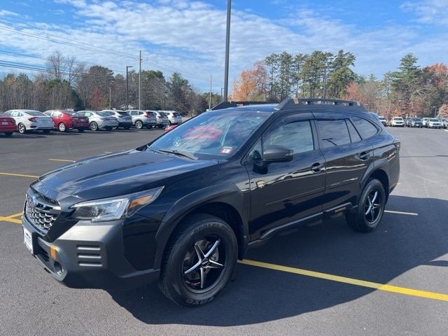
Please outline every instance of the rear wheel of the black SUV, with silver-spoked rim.
[[[371, 207], [370, 204], [372, 203], [374, 207]], [[370, 179], [367, 181], [363, 193], [361, 193], [356, 212], [354, 214], [346, 214], [346, 221], [350, 228], [355, 231], [371, 232], [381, 222], [385, 206], [386, 193], [384, 192], [383, 183], [377, 179]]]

